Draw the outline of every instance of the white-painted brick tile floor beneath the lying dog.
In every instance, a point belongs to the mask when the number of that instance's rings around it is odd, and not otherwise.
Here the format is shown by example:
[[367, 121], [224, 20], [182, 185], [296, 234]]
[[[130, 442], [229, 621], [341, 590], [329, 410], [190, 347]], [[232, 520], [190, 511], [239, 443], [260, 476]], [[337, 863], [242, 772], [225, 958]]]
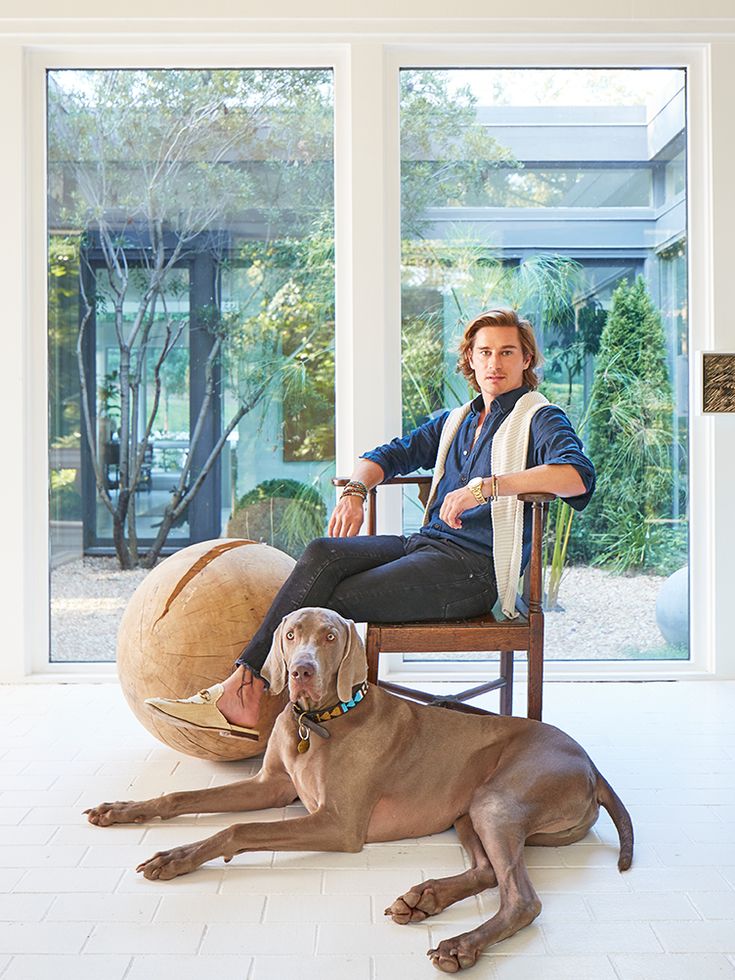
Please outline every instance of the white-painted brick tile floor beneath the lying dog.
[[[469, 975], [735, 980], [735, 682], [548, 684], [545, 697], [545, 720], [630, 809], [634, 866], [616, 870], [606, 815], [582, 843], [529, 848], [543, 911]], [[497, 907], [488, 892], [427, 924], [384, 919], [408, 885], [463, 867], [453, 831], [361, 854], [242, 855], [158, 883], [132, 869], [232, 818], [101, 829], [81, 813], [252, 768], [162, 746], [114, 684], [0, 687], [0, 978], [428, 978], [426, 949]]]

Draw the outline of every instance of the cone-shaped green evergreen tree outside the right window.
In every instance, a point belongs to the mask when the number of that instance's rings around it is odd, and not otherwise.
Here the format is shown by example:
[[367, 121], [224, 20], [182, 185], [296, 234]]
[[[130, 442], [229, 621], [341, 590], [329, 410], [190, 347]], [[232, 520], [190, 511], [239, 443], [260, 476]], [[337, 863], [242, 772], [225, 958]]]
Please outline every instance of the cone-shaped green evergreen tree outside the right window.
[[623, 281], [600, 338], [587, 449], [597, 491], [585, 512], [588, 557], [618, 570], [664, 560], [671, 516], [673, 396], [661, 317], [645, 280]]

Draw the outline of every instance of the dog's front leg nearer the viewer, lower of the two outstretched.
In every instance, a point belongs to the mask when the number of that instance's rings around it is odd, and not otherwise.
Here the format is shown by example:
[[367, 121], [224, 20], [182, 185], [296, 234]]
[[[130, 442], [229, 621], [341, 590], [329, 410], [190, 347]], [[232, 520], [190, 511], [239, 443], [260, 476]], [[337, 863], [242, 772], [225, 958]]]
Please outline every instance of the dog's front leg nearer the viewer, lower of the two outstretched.
[[231, 861], [246, 851], [359, 851], [367, 824], [346, 826], [330, 808], [306, 817], [272, 823], [234, 824], [204, 840], [159, 851], [136, 868], [151, 880], [167, 880], [193, 871], [206, 861]]

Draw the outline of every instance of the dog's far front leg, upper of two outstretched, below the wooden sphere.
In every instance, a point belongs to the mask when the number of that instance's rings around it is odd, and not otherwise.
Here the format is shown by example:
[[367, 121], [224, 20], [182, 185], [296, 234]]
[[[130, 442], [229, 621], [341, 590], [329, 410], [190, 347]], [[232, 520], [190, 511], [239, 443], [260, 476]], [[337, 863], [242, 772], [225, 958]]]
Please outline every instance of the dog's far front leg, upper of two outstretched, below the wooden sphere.
[[84, 812], [90, 823], [109, 827], [115, 823], [143, 823], [160, 817], [168, 820], [184, 813], [232, 813], [235, 810], [265, 810], [286, 806], [296, 799], [291, 778], [285, 770], [263, 769], [249, 779], [209, 789], [167, 793], [140, 802], [100, 803]]

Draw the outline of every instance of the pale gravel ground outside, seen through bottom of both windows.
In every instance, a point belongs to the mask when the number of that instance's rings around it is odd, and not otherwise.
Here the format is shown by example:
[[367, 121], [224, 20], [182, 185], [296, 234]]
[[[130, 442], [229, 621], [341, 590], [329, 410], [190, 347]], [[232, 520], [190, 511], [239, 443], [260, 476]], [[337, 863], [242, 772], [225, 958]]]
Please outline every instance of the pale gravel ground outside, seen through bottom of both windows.
[[[147, 571], [123, 572], [114, 558], [82, 558], [51, 574], [53, 661], [114, 661], [125, 605]], [[570, 568], [560, 590], [563, 609], [546, 615], [546, 656], [618, 660], [672, 656], [656, 625], [656, 575], [612, 575]], [[681, 653], [679, 654], [681, 656]]]

